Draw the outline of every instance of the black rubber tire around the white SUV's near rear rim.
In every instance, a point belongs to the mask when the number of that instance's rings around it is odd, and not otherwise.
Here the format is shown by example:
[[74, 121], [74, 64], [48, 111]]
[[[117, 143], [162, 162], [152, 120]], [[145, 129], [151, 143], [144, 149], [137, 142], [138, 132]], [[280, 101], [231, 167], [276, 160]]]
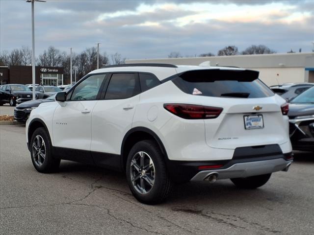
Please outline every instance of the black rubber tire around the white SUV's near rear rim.
[[[140, 154], [138, 154], [139, 152], [144, 152], [145, 154], [147, 154], [145, 155], [145, 157], [147, 158], [148, 156], [149, 159], [151, 159], [153, 163], [153, 166], [149, 167], [149, 169], [150, 170], [154, 169], [154, 173], [153, 173], [154, 183], [153, 183], [153, 186], [151, 186], [145, 180], [144, 182], [145, 185], [148, 186], [148, 188], [151, 187], [150, 190], [147, 190], [146, 193], [145, 191], [142, 193], [139, 192], [139, 189], [136, 188], [136, 186], [134, 186], [132, 183], [132, 178], [133, 178], [132, 174], [134, 175], [134, 172], [136, 172], [136, 170], [134, 170], [135, 169], [134, 166], [132, 166], [133, 168], [131, 169], [131, 161], [133, 158], [135, 158], [135, 156], [139, 156], [139, 159], [141, 158]], [[142, 172], [142, 171], [138, 171], [138, 172]], [[147, 172], [149, 172], [149, 170]], [[128, 184], [131, 189], [131, 192], [134, 195], [134, 197], [141, 203], [150, 204], [150, 205], [160, 203], [164, 201], [171, 192], [172, 182], [170, 180], [169, 174], [166, 169], [164, 156], [161, 153], [161, 150], [155, 141], [151, 141], [151, 140], [139, 141], [131, 148], [131, 151], [128, 156], [127, 164], [126, 164], [126, 173], [127, 173], [127, 180], [128, 180]], [[151, 174], [152, 172], [149, 172], [148, 177], [151, 177]], [[146, 178], [146, 173], [144, 174], [144, 176], [141, 176], [138, 180], [141, 181], [143, 178]], [[135, 184], [135, 181], [134, 181], [134, 184]], [[141, 182], [140, 182], [140, 186], [142, 186]]]

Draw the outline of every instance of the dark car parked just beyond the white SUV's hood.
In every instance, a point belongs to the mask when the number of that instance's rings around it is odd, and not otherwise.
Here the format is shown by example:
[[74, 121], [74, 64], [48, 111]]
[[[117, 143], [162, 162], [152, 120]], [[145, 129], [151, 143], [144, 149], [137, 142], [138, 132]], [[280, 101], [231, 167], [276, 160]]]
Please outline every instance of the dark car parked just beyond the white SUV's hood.
[[14, 110], [14, 119], [17, 121], [26, 121], [33, 109], [37, 108], [41, 103], [54, 101], [54, 96], [49, 96], [47, 99], [30, 100], [17, 105]]

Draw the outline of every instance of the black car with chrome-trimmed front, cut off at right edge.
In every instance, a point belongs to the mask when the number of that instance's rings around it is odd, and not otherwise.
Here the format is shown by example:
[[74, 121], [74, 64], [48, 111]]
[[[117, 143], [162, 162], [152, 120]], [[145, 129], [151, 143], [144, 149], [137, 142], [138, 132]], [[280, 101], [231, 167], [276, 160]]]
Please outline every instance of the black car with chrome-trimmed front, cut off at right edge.
[[292, 148], [314, 152], [314, 87], [290, 101], [288, 116]]

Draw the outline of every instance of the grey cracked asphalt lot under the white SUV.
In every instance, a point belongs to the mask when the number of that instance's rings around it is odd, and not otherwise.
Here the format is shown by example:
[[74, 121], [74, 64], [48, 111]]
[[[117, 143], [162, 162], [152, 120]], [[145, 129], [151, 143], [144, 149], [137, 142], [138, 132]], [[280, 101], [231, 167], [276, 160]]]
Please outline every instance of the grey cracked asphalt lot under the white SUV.
[[[2, 110], [2, 109], [1, 109]], [[188, 183], [163, 204], [135, 200], [123, 174], [62, 161], [38, 173], [24, 125], [0, 125], [0, 234], [313, 235], [314, 156], [295, 153], [288, 172], [257, 190], [229, 180]]]

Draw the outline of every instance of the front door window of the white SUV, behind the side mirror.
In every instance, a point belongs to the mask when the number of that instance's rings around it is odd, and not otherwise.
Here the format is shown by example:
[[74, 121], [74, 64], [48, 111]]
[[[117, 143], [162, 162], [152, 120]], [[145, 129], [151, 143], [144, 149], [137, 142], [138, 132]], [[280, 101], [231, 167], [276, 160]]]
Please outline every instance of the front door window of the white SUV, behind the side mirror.
[[105, 74], [89, 76], [74, 88], [70, 100], [95, 100], [104, 79]]

